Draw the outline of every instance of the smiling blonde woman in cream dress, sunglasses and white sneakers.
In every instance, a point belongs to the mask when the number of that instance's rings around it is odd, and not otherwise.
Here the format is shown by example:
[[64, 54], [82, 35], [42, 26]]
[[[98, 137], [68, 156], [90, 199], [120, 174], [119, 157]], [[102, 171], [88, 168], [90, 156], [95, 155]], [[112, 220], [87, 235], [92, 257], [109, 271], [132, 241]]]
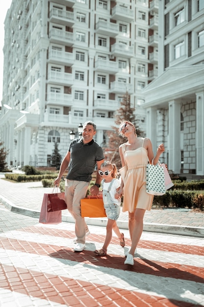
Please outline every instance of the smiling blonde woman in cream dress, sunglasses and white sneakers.
[[133, 265], [136, 246], [143, 231], [144, 213], [151, 209], [154, 198], [146, 193], [146, 165], [148, 162], [154, 165], [158, 163], [160, 154], [164, 152], [164, 145], [159, 145], [154, 156], [150, 139], [137, 137], [136, 128], [129, 121], [121, 123], [119, 133], [127, 142], [119, 146], [122, 180], [115, 197], [120, 198], [123, 194], [123, 212], [129, 211], [128, 226], [132, 244], [125, 264]]

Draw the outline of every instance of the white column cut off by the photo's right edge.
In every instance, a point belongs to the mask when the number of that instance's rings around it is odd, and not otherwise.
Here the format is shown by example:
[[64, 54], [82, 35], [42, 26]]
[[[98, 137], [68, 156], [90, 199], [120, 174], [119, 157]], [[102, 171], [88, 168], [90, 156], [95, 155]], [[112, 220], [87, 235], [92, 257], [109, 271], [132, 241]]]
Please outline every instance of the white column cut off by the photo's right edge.
[[196, 93], [196, 175], [204, 175], [204, 91]]

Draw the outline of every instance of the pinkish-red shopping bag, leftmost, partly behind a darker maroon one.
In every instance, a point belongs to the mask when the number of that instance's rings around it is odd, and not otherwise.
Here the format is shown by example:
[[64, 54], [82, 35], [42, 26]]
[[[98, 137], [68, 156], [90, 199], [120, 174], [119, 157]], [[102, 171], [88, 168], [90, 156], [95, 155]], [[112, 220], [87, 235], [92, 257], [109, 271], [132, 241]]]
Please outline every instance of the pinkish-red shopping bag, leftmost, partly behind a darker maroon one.
[[48, 195], [44, 194], [43, 203], [41, 206], [41, 213], [39, 218], [39, 223], [42, 224], [59, 224], [62, 222], [62, 211], [50, 211], [47, 212]]

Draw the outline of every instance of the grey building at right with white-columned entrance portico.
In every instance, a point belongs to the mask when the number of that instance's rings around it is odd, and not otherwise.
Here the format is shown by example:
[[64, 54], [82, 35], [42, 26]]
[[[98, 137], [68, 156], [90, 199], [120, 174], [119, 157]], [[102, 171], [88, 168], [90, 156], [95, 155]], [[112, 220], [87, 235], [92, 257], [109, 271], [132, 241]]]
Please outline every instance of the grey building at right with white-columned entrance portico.
[[158, 77], [143, 91], [147, 137], [164, 142], [169, 169], [203, 178], [204, 0], [159, 1], [158, 35]]

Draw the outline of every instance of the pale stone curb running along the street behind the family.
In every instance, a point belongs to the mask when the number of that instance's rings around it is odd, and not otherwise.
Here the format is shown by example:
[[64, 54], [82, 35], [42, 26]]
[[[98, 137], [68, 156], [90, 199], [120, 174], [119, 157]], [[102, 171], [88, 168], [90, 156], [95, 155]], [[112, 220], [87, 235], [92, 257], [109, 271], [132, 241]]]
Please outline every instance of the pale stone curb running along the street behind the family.
[[[40, 211], [34, 211], [27, 209], [25, 207], [19, 207], [8, 201], [3, 196], [0, 196], [0, 203], [2, 203], [11, 212], [18, 214], [23, 214], [33, 218], [40, 217]], [[106, 227], [106, 218], [85, 218], [86, 223], [92, 226], [102, 226]], [[72, 216], [62, 214], [62, 222], [74, 223]], [[117, 220], [117, 225], [120, 229], [128, 230], [128, 222]], [[178, 226], [170, 224], [157, 224], [157, 223], [144, 223], [143, 231], [147, 232], [159, 232], [159, 233], [169, 233], [184, 236], [194, 236], [194, 237], [204, 237], [204, 227], [192, 227], [192, 226]]]

